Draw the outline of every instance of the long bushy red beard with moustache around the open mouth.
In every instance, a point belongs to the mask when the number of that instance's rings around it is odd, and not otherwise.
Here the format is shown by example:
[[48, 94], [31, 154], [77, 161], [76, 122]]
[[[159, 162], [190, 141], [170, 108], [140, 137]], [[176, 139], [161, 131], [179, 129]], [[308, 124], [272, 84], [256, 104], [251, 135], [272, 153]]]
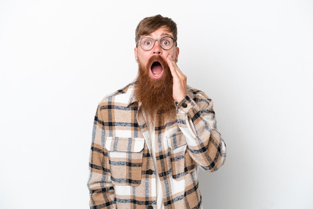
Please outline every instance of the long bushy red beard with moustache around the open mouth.
[[[149, 76], [149, 70], [153, 62], [158, 61], [163, 68], [162, 77], [153, 79]], [[173, 79], [169, 66], [159, 55], [155, 55], [148, 60], [144, 66], [138, 63], [137, 84], [135, 87], [135, 97], [141, 102], [140, 109], [144, 111], [150, 119], [156, 113], [162, 113], [165, 118], [173, 119], [175, 116], [174, 99], [172, 96]]]

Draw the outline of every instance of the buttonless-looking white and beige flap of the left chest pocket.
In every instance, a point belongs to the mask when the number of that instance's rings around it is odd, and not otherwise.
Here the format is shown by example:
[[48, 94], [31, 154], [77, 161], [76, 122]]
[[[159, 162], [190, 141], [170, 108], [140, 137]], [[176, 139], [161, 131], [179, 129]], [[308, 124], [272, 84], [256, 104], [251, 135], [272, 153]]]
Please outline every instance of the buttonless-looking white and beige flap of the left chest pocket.
[[144, 138], [107, 137], [105, 141], [108, 151], [139, 152], [143, 146]]

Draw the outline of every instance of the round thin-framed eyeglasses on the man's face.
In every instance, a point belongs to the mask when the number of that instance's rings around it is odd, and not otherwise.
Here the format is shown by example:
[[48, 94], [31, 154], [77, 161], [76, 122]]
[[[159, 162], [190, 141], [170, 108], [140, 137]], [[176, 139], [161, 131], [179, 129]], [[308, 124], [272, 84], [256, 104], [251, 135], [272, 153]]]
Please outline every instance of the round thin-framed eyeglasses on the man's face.
[[[158, 44], [164, 50], [171, 49], [174, 45], [174, 42], [176, 41], [176, 39], [174, 39], [170, 36], [164, 36], [164, 37], [161, 37], [160, 39], [153, 39], [151, 37], [143, 37], [140, 40], [137, 40], [136, 44], [139, 43], [143, 50], [148, 51], [148, 50], [151, 50], [153, 48], [155, 40], [158, 41]], [[176, 42], [176, 45], [177, 45], [177, 42]]]

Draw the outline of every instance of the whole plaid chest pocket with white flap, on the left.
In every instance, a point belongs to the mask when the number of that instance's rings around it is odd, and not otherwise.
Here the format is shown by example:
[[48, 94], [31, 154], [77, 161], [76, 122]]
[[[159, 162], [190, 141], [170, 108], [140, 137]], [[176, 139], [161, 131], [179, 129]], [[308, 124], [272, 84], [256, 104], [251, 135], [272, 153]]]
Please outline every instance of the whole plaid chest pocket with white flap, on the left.
[[116, 185], [139, 185], [141, 182], [144, 138], [107, 137], [105, 148]]

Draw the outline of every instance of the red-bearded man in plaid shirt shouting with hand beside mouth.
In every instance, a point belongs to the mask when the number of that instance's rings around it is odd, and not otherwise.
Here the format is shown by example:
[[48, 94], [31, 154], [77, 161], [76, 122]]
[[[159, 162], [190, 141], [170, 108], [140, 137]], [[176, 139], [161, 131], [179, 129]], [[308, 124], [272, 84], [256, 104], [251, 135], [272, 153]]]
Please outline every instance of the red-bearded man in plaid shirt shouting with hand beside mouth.
[[215, 171], [226, 148], [213, 104], [178, 68], [174, 21], [142, 19], [137, 77], [105, 96], [94, 118], [90, 208], [202, 208], [198, 167]]

